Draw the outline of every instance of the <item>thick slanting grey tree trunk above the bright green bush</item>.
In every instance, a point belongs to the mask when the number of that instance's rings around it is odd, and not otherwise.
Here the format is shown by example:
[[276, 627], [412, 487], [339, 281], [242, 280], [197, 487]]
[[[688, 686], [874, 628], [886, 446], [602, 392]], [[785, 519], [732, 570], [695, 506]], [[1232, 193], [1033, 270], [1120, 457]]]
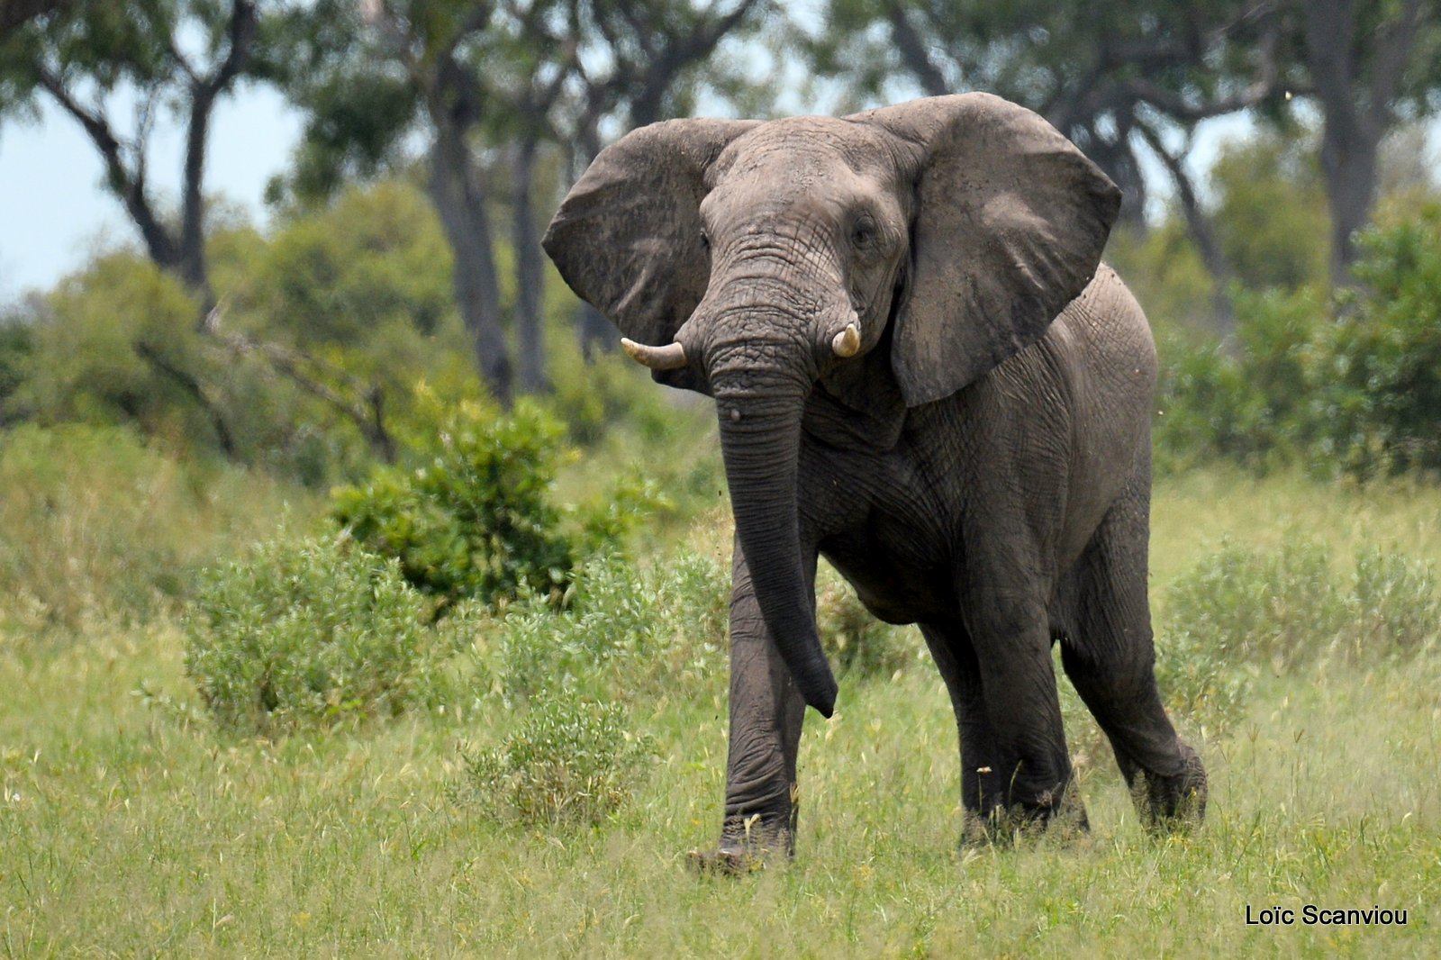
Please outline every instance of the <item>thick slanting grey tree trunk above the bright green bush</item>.
[[500, 329], [500, 283], [491, 251], [486, 195], [476, 180], [464, 131], [445, 110], [432, 110], [431, 200], [455, 255], [455, 304], [471, 336], [476, 363], [496, 399], [510, 406], [510, 347]]

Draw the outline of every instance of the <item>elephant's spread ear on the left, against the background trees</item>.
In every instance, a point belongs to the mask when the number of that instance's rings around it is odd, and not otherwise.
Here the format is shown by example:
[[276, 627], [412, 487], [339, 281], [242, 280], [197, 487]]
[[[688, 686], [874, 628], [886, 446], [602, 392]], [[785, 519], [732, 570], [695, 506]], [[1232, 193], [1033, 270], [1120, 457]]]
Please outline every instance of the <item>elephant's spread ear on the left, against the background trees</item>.
[[[705, 295], [705, 174], [759, 123], [667, 120], [634, 130], [595, 157], [556, 210], [542, 246], [571, 290], [631, 340], [670, 343]], [[697, 386], [687, 370], [656, 379]]]

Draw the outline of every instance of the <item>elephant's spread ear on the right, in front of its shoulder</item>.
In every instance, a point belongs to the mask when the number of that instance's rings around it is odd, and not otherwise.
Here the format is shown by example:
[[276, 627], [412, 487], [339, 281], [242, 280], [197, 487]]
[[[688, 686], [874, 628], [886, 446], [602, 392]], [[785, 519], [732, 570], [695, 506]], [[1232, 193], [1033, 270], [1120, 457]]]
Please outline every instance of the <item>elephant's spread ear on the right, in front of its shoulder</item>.
[[1121, 192], [1055, 127], [989, 94], [850, 120], [918, 148], [909, 291], [891, 353], [915, 406], [1045, 334], [1095, 274]]

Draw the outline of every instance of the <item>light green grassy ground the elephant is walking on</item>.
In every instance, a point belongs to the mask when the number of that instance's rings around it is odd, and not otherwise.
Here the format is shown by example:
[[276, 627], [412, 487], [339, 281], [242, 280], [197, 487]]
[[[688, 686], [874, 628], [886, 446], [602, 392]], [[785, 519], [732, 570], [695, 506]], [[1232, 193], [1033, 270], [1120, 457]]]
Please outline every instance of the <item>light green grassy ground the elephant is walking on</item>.
[[[1164, 481], [1156, 594], [1223, 542], [1287, 536], [1327, 543], [1339, 566], [1366, 545], [1441, 565], [1441, 492]], [[1089, 837], [964, 855], [938, 677], [844, 680], [836, 718], [807, 721], [797, 861], [712, 879], [684, 852], [718, 827], [723, 670], [633, 709], [659, 760], [630, 803], [595, 827], [535, 830], [457, 788], [463, 751], [517, 722], [497, 698], [226, 738], [184, 676], [179, 617], [6, 621], [3, 956], [1441, 954], [1434, 649], [1257, 670], [1244, 719], [1197, 744], [1212, 793], [1193, 836], [1147, 836], [1097, 751], [1079, 765]], [[1306, 925], [1306, 904], [1408, 924]], [[1275, 905], [1297, 923], [1246, 924]]]

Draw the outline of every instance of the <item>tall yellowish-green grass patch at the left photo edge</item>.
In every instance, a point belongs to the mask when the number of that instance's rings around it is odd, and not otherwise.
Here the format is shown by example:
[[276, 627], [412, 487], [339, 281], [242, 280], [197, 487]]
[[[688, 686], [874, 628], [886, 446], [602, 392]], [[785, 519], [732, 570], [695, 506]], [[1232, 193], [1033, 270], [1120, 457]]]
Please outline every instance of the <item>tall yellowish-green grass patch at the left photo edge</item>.
[[81, 424], [0, 432], [0, 627], [26, 633], [147, 621], [285, 500], [305, 503], [269, 477]]

